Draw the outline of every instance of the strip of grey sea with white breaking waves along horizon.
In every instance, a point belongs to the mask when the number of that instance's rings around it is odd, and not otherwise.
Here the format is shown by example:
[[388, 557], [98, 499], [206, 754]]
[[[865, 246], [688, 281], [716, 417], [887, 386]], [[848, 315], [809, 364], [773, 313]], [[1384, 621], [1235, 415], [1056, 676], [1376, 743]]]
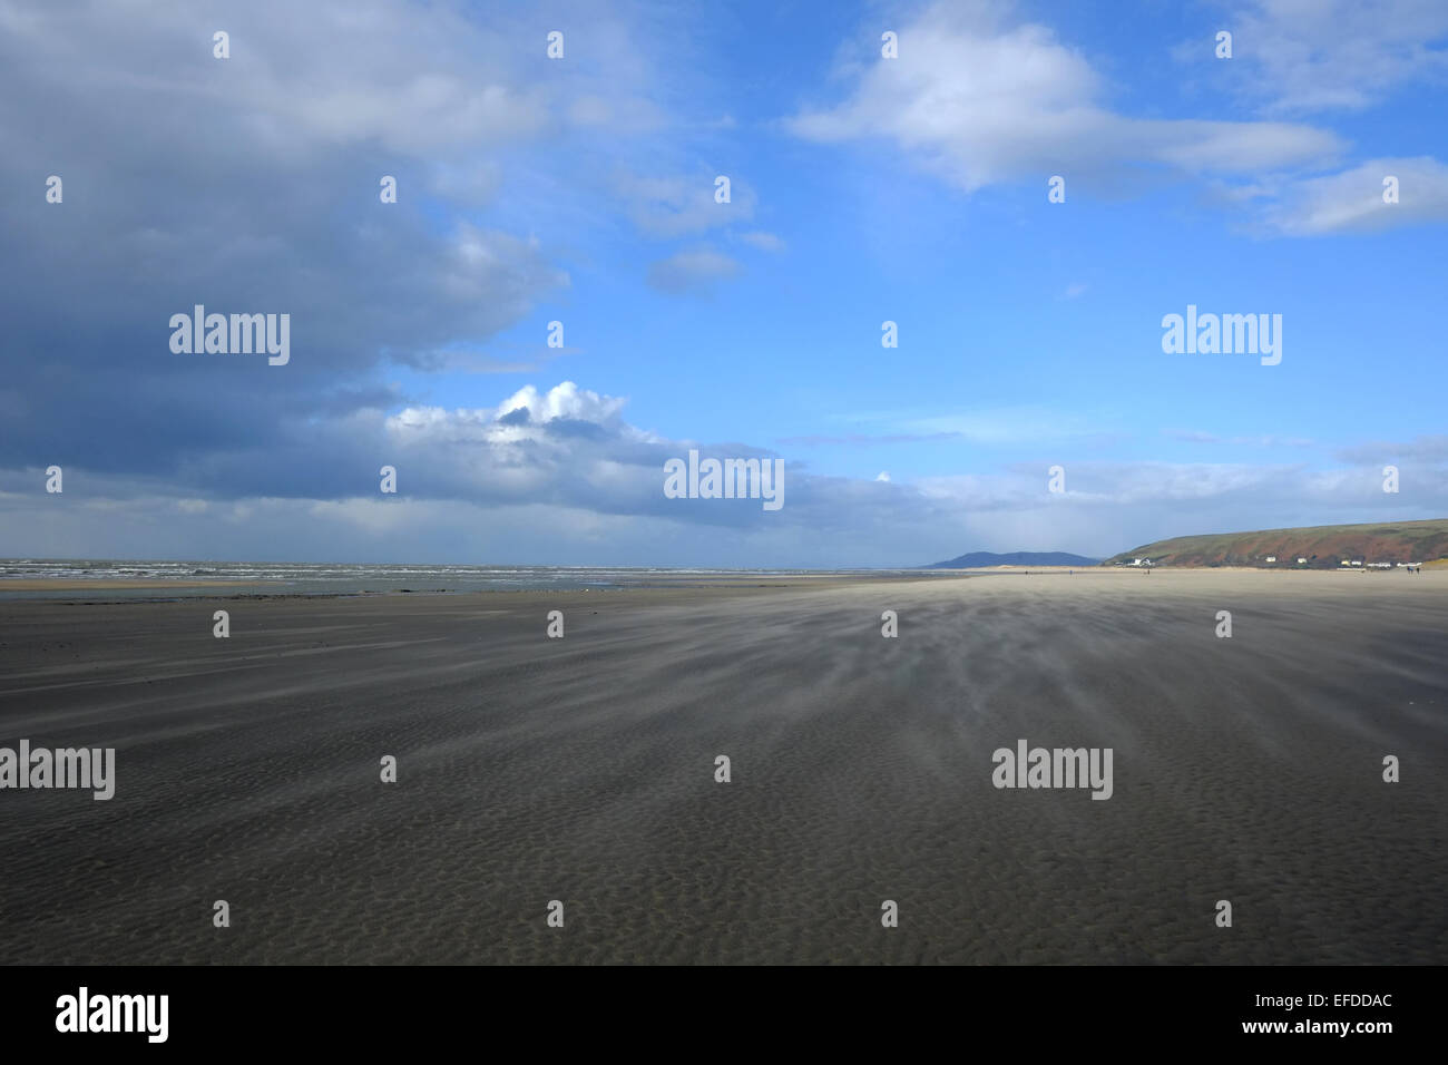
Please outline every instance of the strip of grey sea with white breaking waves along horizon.
[[[188, 596], [366, 596], [378, 593], [582, 591], [737, 584], [820, 574], [886, 577], [919, 569], [673, 569], [531, 565], [384, 565], [339, 562], [209, 562], [119, 558], [0, 559], [0, 598], [181, 598]], [[6, 588], [7, 581], [80, 581], [49, 590]], [[100, 581], [155, 581], [113, 588]]]

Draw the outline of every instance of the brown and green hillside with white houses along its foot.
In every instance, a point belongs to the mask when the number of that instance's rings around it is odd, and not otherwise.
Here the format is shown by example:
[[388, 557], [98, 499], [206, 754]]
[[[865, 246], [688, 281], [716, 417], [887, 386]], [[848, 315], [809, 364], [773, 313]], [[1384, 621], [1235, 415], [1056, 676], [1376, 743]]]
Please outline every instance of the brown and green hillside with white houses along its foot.
[[[1276, 562], [1268, 562], [1276, 556]], [[1337, 569], [1344, 559], [1432, 562], [1448, 556], [1448, 519], [1374, 525], [1318, 525], [1244, 533], [1176, 536], [1112, 555], [1102, 565], [1150, 558], [1157, 565], [1257, 565], [1283, 569]], [[1306, 558], [1305, 565], [1297, 559]]]

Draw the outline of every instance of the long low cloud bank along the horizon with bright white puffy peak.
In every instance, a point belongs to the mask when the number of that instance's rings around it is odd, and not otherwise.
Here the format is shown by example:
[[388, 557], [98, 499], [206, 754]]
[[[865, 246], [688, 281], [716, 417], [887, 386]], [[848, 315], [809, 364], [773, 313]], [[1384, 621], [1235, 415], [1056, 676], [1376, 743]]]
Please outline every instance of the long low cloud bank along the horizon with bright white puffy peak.
[[[1370, 461], [1316, 471], [1067, 462], [1064, 494], [1050, 493], [1044, 464], [1032, 462], [908, 484], [786, 462], [785, 506], [765, 511], [753, 500], [666, 498], [663, 464], [689, 448], [717, 458], [776, 452], [668, 439], [631, 425], [626, 407], [623, 397], [563, 381], [489, 407], [413, 404], [329, 419], [265, 448], [197, 456], [165, 477], [71, 465], [64, 496], [43, 491], [38, 465], [0, 471], [0, 514], [14, 530], [12, 552], [48, 556], [184, 558], [200, 543], [232, 558], [856, 567], [972, 549], [1105, 556], [1211, 529], [1448, 509], [1448, 443], [1420, 438], [1367, 445], [1348, 458]], [[1399, 456], [1402, 496], [1381, 491], [1383, 452]], [[382, 464], [397, 468], [397, 496], [378, 491]]]

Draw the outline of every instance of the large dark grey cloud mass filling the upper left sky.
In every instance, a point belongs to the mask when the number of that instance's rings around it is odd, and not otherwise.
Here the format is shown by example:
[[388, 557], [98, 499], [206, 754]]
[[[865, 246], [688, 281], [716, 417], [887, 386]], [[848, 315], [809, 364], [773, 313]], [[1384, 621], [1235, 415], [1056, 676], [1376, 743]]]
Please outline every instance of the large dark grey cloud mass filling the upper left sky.
[[[640, 42], [679, 35], [636, 4], [556, 10], [566, 62], [543, 59], [529, 12], [481, 25], [403, 0], [258, 0], [227, 12], [216, 59], [191, 4], [0, 0], [0, 183], [38, 190], [0, 200], [0, 319], [33, 354], [0, 385], [0, 467], [304, 455], [310, 432], [408, 403], [384, 384], [395, 365], [521, 372], [568, 354], [500, 338], [572, 285], [527, 227], [531, 200], [565, 233], [559, 219], [610, 225], [594, 162], [643, 152], [627, 138], [662, 112], [640, 103], [657, 78]], [[62, 204], [43, 201], [49, 172]], [[168, 320], [197, 303], [288, 313], [291, 362], [174, 355]]]

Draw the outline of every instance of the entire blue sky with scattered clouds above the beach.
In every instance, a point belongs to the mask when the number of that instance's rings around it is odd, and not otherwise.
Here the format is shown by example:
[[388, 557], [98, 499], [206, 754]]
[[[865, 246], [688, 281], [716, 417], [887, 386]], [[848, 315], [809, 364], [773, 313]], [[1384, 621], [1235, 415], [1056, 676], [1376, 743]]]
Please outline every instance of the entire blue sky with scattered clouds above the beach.
[[[1445, 87], [1439, 0], [0, 0], [0, 556], [1444, 517]], [[197, 304], [288, 361], [174, 351]], [[1189, 306], [1280, 362], [1164, 351]], [[669, 497], [691, 449], [783, 504]]]

